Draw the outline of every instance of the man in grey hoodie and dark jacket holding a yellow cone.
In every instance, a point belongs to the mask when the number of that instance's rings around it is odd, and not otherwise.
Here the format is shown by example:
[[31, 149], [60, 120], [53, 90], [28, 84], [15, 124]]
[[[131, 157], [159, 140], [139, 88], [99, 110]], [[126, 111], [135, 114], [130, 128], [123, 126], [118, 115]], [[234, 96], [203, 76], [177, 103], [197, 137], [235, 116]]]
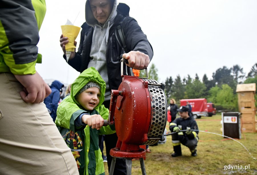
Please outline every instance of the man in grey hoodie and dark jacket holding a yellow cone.
[[[153, 57], [153, 50], [136, 20], [131, 17], [124, 18], [121, 15], [122, 12], [117, 10], [117, 0], [87, 0], [85, 12], [83, 50], [77, 53], [72, 52], [68, 64], [79, 72], [83, 72], [89, 67], [97, 69], [106, 82], [105, 102], [103, 104], [109, 108], [111, 89], [118, 89], [122, 82], [120, 56], [122, 55], [128, 60], [127, 66], [130, 68], [144, 69]], [[115, 37], [116, 28], [120, 23], [122, 23], [121, 27], [127, 50], [129, 50], [127, 53], [121, 48]], [[65, 60], [65, 44], [68, 43], [68, 39], [61, 35], [60, 45]], [[74, 44], [76, 45], [77, 42]], [[124, 66], [124, 75], [130, 75], [127, 66]], [[116, 134], [105, 136], [109, 170], [112, 160], [109, 151], [116, 146], [116, 143]], [[126, 174], [123, 160], [116, 160], [114, 174]]]

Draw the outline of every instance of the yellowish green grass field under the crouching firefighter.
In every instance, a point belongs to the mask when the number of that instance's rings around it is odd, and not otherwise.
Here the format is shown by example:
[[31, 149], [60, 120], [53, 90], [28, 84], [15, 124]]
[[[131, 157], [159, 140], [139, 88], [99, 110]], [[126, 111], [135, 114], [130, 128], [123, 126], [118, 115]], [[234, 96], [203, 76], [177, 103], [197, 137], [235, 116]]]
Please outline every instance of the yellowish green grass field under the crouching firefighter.
[[[199, 130], [222, 134], [221, 115], [202, 117], [196, 121]], [[168, 129], [168, 126], [166, 128]], [[171, 136], [167, 136], [165, 144], [149, 146], [151, 153], [146, 153], [144, 160], [146, 174], [257, 174], [257, 160], [251, 157], [252, 155], [257, 158], [257, 133], [242, 133], [242, 138], [237, 139], [251, 155], [236, 141], [219, 135], [200, 132], [199, 139], [196, 157], [192, 157], [184, 145], [181, 145], [182, 156], [171, 157], [173, 152]], [[232, 170], [232, 165], [237, 167]], [[248, 169], [242, 169], [249, 165]], [[224, 170], [224, 166], [227, 166], [227, 170]], [[105, 163], [105, 174], [109, 174], [107, 163]], [[134, 160], [132, 175], [139, 174], [142, 174], [140, 162]]]

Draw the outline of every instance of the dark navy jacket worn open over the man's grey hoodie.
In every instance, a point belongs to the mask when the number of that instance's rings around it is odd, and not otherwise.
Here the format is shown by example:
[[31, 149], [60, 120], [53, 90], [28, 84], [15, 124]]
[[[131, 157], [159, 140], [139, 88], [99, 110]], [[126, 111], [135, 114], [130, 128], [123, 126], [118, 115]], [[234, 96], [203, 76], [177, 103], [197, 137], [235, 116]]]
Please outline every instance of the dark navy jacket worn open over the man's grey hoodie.
[[[115, 22], [109, 30], [106, 61], [110, 89], [118, 89], [122, 82], [120, 56], [123, 54], [123, 50], [115, 37], [116, 27], [122, 19], [123, 16], [118, 12], [115, 17]], [[122, 28], [128, 50], [143, 52], [144, 54], [147, 54], [151, 60], [153, 57], [152, 46], [148, 42], [146, 35], [142, 32], [136, 20], [131, 17], [126, 17], [122, 23]], [[76, 53], [75, 57], [68, 62], [69, 65], [79, 72], [83, 72], [88, 67], [93, 30], [93, 27], [87, 24], [84, 25], [85, 36], [82, 54]], [[65, 56], [64, 58], [66, 59]], [[124, 66], [124, 75], [126, 75], [126, 67], [127, 66]], [[130, 71], [128, 70], [127, 72], [128, 75], [130, 75]]]

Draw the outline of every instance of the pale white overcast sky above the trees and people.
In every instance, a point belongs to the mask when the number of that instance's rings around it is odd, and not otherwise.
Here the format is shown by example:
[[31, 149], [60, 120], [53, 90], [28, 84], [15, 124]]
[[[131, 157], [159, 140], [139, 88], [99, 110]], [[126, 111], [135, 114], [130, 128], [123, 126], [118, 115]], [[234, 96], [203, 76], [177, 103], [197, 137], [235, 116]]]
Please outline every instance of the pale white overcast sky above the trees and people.
[[[39, 32], [43, 63], [36, 69], [44, 80], [72, 83], [79, 72], [63, 59], [61, 25], [85, 22], [85, 0], [46, 0], [47, 13]], [[210, 79], [218, 68], [239, 64], [248, 74], [257, 62], [256, 0], [118, 0], [130, 6], [147, 35], [159, 82], [197, 73]], [[77, 17], [77, 19], [76, 19]], [[76, 19], [76, 20], [75, 20]], [[80, 35], [77, 37], [79, 43]]]

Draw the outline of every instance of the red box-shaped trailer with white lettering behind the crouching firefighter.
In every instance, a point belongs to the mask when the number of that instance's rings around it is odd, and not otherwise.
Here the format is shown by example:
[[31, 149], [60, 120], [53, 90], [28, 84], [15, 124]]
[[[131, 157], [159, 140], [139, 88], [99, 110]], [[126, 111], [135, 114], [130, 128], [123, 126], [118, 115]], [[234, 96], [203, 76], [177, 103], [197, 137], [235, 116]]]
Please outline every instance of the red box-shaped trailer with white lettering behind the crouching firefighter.
[[192, 106], [194, 119], [208, 116], [207, 100], [205, 98], [182, 99], [180, 100], [180, 106], [186, 106], [187, 101]]

